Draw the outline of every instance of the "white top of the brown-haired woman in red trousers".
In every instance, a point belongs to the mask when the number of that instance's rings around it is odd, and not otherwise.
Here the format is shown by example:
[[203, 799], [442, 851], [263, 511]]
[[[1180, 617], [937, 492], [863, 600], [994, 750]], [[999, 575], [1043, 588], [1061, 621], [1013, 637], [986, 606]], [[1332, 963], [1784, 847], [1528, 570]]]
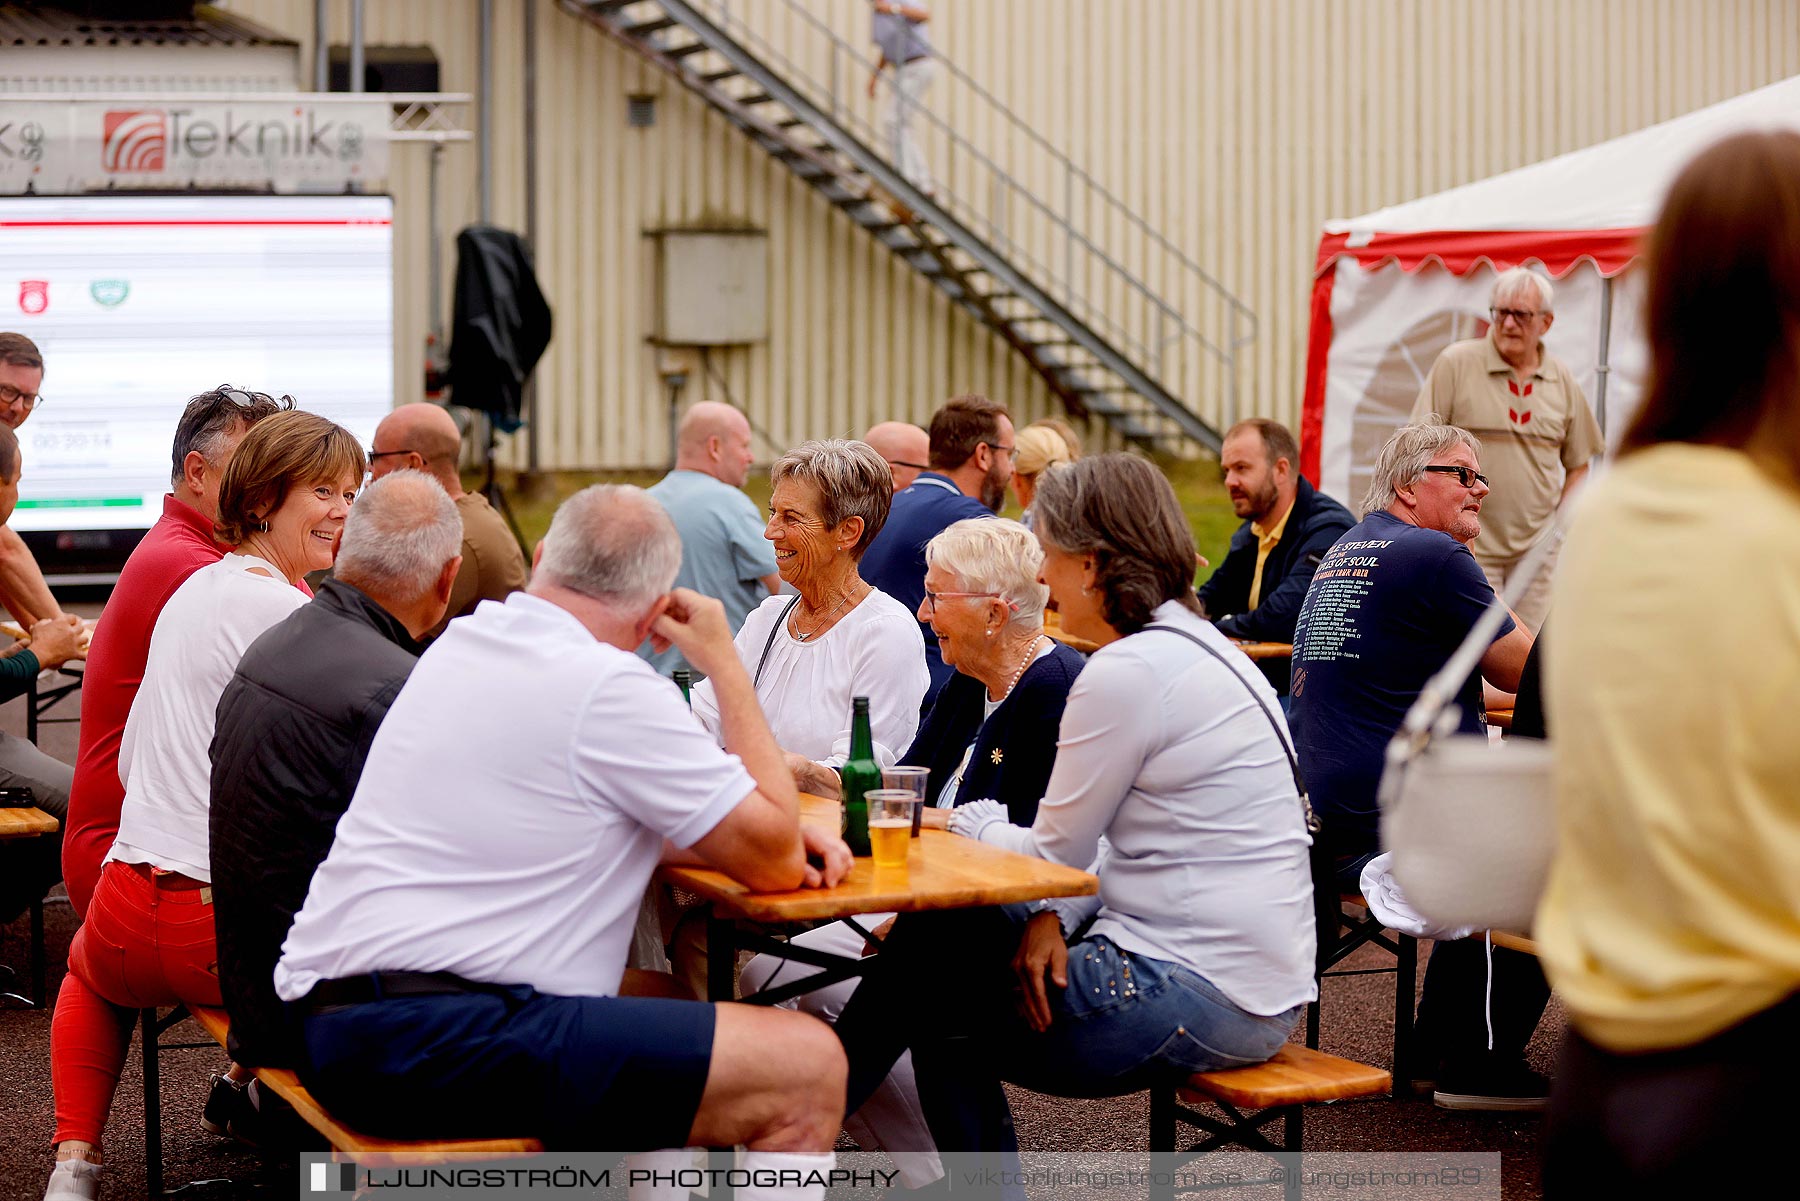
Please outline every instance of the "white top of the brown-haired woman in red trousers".
[[119, 742], [124, 807], [106, 859], [212, 879], [207, 817], [220, 697], [250, 643], [304, 603], [304, 592], [254, 555], [227, 555], [175, 589], [149, 634], [144, 682]]

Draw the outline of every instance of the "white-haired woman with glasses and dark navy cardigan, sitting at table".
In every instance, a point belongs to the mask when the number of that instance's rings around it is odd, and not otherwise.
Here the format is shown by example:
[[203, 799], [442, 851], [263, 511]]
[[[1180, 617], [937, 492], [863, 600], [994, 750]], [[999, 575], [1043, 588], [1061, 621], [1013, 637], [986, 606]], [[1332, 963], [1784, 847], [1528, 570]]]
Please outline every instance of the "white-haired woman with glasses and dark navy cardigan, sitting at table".
[[[1042, 562], [1037, 538], [1010, 520], [959, 520], [925, 546], [925, 600], [918, 616], [931, 621], [943, 661], [956, 668], [918, 738], [900, 756], [902, 763], [931, 769], [929, 826], [949, 826], [952, 807], [977, 799], [999, 801], [1012, 821], [1026, 826], [1037, 814], [1057, 762], [1062, 706], [1084, 663], [1082, 655], [1044, 636], [1049, 589], [1037, 578]], [[862, 915], [857, 926], [880, 938], [893, 926], [893, 915]], [[857, 927], [833, 922], [799, 935], [794, 944], [853, 956], [864, 938]], [[815, 971], [760, 954], [743, 969], [743, 990], [756, 992]], [[846, 980], [783, 1005], [835, 1021], [855, 987], [855, 980]], [[864, 1151], [889, 1152], [909, 1188], [922, 1188], [941, 1172], [909, 1057], [895, 1062], [868, 1102], [844, 1120], [844, 1129]]]

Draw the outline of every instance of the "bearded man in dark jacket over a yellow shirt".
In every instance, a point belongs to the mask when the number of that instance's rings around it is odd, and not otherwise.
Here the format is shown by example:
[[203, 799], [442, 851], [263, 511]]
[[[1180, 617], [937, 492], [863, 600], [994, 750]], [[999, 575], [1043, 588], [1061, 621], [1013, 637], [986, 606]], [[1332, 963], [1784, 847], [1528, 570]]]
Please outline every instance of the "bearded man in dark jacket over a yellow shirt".
[[[1201, 585], [1201, 605], [1220, 634], [1256, 643], [1292, 643], [1300, 605], [1325, 551], [1355, 524], [1300, 474], [1300, 445], [1267, 418], [1226, 432], [1219, 466], [1231, 508], [1244, 524], [1226, 562]], [[1264, 659], [1264, 675], [1287, 695], [1287, 659]]]

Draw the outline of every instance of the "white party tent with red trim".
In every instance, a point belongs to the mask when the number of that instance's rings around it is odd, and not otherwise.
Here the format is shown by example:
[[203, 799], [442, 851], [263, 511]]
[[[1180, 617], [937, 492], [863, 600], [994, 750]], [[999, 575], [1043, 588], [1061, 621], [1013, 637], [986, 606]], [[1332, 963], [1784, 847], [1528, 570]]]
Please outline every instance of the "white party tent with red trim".
[[1750, 128], [1800, 130], [1800, 76], [1588, 149], [1327, 221], [1312, 281], [1305, 474], [1354, 506], [1438, 351], [1487, 331], [1494, 275], [1521, 263], [1555, 281], [1557, 319], [1544, 340], [1616, 445], [1647, 366], [1640, 238], [1683, 164]]

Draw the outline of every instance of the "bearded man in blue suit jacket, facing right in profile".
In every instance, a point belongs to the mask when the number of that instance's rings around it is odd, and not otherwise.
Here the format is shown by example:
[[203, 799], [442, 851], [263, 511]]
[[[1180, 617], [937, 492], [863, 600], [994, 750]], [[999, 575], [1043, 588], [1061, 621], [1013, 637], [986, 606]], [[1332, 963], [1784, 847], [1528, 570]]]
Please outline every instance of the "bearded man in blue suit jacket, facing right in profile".
[[[895, 493], [887, 522], [857, 565], [862, 578], [918, 612], [925, 600], [925, 544], [965, 517], [994, 517], [1012, 483], [1012, 418], [1006, 405], [986, 396], [952, 396], [931, 418], [929, 472]], [[963, 601], [950, 601], [963, 603]], [[938, 657], [938, 636], [925, 634], [931, 690], [925, 709], [950, 679]]]

